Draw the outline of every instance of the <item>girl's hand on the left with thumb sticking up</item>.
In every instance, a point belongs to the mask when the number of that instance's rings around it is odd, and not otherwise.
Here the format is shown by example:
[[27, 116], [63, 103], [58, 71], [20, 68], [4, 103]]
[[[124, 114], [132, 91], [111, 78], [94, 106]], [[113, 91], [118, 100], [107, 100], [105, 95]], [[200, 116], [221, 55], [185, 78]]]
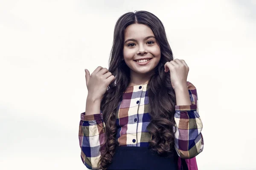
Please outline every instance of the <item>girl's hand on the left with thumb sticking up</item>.
[[106, 68], [98, 66], [90, 75], [90, 72], [85, 69], [85, 80], [88, 89], [88, 96], [93, 100], [101, 100], [107, 91], [107, 87], [115, 80], [115, 77]]

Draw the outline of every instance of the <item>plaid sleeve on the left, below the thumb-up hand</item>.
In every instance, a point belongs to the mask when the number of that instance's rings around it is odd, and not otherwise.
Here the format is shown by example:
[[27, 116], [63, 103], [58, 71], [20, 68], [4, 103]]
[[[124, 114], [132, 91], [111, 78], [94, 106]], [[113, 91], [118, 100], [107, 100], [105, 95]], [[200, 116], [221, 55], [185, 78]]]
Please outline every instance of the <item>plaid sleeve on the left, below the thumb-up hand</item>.
[[81, 113], [79, 144], [81, 147], [81, 159], [88, 169], [96, 169], [98, 167], [101, 155], [100, 147], [105, 141], [104, 127], [102, 113], [95, 115]]

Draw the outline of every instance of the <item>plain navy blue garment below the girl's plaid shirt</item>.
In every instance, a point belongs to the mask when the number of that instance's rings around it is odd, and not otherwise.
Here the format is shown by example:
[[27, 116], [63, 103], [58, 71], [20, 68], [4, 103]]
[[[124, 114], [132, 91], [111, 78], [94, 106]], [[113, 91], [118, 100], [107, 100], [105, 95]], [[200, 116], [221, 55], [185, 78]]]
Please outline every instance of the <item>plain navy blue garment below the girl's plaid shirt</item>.
[[177, 170], [175, 150], [165, 156], [148, 147], [116, 147], [112, 163], [107, 170]]

